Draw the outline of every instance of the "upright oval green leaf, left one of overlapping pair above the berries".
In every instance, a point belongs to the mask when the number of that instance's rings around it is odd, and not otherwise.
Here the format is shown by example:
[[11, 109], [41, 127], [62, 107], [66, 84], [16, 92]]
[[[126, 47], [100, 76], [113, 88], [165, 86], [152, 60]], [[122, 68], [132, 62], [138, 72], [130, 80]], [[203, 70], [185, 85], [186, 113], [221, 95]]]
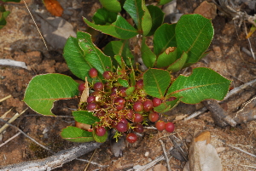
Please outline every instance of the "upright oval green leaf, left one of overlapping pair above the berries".
[[79, 47], [78, 39], [76, 37], [67, 38], [63, 51], [63, 56], [70, 71], [82, 80], [87, 77], [88, 82], [91, 82], [92, 79], [89, 77], [88, 72], [92, 66], [85, 60], [85, 54]]

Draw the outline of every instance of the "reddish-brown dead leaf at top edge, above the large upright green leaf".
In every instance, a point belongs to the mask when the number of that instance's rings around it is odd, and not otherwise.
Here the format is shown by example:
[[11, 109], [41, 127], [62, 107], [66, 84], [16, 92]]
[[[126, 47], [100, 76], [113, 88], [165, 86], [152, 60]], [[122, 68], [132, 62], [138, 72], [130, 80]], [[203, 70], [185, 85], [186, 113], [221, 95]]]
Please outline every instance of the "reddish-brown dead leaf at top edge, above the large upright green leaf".
[[217, 16], [217, 7], [214, 3], [202, 2], [194, 11], [194, 14], [201, 14], [208, 19], [215, 19]]

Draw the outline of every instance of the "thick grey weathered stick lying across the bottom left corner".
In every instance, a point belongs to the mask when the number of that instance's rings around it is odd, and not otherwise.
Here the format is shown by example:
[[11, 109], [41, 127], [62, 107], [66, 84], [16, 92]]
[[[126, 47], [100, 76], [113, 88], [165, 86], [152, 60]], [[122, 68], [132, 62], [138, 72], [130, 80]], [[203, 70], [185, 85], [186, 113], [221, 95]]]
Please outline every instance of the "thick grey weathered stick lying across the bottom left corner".
[[59, 151], [51, 157], [46, 157], [41, 160], [34, 160], [29, 162], [20, 162], [17, 164], [12, 164], [9, 166], [1, 167], [1, 171], [42, 171], [42, 170], [51, 170], [54, 168], [61, 168], [61, 166], [66, 163], [74, 160], [77, 157], [83, 156], [84, 154], [95, 150], [102, 143], [90, 142], [83, 143], [79, 145], [74, 145], [72, 148]]

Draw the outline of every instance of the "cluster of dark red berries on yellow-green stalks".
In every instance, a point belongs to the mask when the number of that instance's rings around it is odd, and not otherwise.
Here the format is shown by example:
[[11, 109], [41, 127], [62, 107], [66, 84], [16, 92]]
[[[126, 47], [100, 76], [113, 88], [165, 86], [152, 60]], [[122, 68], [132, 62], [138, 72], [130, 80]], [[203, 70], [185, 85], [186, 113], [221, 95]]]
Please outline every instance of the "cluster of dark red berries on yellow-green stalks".
[[[89, 71], [91, 78], [98, 77], [98, 71], [91, 68]], [[137, 77], [133, 88], [123, 87], [118, 80], [129, 80], [125, 70], [118, 73], [105, 71], [102, 74], [102, 82], [93, 83], [90, 89], [94, 91], [88, 96], [87, 102], [82, 106], [82, 110], [94, 112], [100, 122], [93, 125], [98, 136], [106, 133], [106, 128], [115, 128], [118, 132], [116, 137], [122, 136], [125, 132], [133, 130], [137, 133], [143, 133], [143, 124], [146, 124], [146, 118], [151, 122], [159, 120], [159, 113], [154, 111], [154, 107], [159, 106], [162, 101], [158, 98], [152, 98], [143, 90], [143, 79]], [[84, 84], [79, 85], [80, 94], [84, 91]], [[174, 129], [168, 126], [170, 123], [160, 125], [156, 123], [156, 128], [166, 127], [168, 132]], [[137, 135], [134, 133], [126, 134], [126, 140], [130, 143], [137, 141]]]

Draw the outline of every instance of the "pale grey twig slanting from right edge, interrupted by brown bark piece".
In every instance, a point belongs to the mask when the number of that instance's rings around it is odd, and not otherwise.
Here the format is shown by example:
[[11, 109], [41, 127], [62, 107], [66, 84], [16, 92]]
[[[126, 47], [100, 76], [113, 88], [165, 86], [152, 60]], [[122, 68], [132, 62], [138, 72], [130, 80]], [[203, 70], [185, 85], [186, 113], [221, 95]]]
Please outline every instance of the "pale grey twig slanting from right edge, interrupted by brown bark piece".
[[[256, 83], [256, 79], [250, 81], [250, 82], [247, 82], [247, 83], [244, 83], [242, 84], [241, 86], [237, 87], [237, 88], [234, 88], [232, 90], [230, 90], [230, 92], [225, 96], [224, 100], [227, 100], [230, 98], [230, 96], [232, 96], [233, 94], [237, 94], [239, 91], [241, 91], [242, 89], [245, 89], [247, 88], [248, 86], [252, 86], [253, 83]], [[221, 101], [221, 103], [224, 102]], [[220, 102], [220, 101], [219, 101]], [[194, 113], [192, 113], [189, 117], [185, 117], [184, 118], [184, 121], [189, 121], [189, 119], [192, 119], [194, 117], [197, 117], [199, 115], [201, 115], [202, 113], [204, 113], [205, 111], [207, 111], [207, 108], [206, 107], [203, 107], [201, 108], [199, 111], [195, 111]]]

